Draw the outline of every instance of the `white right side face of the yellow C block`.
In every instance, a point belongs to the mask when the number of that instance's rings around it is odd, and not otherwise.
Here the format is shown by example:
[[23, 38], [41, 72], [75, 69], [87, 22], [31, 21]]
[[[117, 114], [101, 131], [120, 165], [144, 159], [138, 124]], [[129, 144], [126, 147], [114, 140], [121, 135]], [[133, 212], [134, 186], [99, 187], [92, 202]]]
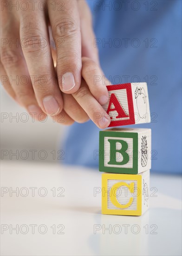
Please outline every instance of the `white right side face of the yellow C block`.
[[141, 173], [142, 175], [142, 214], [149, 209], [150, 197], [150, 170]]

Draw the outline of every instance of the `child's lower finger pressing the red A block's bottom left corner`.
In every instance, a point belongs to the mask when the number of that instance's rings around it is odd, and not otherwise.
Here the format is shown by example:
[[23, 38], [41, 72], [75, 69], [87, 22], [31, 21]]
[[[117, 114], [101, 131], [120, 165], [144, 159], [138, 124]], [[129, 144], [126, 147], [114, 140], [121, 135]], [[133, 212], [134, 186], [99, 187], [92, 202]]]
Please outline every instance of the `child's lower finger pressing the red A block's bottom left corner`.
[[98, 128], [104, 129], [109, 126], [109, 115], [93, 97], [84, 80], [82, 80], [79, 90], [72, 95]]

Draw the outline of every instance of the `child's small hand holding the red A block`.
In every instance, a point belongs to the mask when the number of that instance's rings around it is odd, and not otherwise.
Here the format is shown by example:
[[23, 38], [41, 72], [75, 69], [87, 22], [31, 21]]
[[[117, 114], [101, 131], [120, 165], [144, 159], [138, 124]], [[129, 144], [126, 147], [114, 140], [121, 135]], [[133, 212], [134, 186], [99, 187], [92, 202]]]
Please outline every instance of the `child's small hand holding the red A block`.
[[[62, 94], [64, 106], [56, 116], [56, 121], [70, 125], [74, 121], [83, 123], [91, 119], [98, 128], [108, 127], [110, 117], [98, 102], [106, 85], [109, 85], [109, 81], [105, 79], [101, 68], [90, 58], [82, 57], [81, 86], [76, 93]], [[104, 102], [105, 96], [103, 97]]]

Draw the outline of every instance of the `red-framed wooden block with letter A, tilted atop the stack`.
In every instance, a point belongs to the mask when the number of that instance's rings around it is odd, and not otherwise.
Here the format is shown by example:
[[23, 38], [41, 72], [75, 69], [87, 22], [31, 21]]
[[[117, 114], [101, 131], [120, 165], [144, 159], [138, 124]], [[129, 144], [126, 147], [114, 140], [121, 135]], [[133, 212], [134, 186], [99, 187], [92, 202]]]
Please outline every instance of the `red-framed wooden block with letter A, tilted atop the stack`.
[[150, 122], [147, 83], [107, 86], [109, 101], [103, 105], [110, 115], [109, 127]]

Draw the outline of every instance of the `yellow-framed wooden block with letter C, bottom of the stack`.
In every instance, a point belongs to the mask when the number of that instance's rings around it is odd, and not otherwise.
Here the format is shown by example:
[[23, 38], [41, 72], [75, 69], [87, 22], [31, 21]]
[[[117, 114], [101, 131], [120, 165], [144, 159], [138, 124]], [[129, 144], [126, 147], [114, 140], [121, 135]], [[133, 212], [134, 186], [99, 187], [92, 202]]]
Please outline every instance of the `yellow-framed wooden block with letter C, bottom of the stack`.
[[102, 214], [140, 216], [149, 208], [150, 170], [102, 175]]

